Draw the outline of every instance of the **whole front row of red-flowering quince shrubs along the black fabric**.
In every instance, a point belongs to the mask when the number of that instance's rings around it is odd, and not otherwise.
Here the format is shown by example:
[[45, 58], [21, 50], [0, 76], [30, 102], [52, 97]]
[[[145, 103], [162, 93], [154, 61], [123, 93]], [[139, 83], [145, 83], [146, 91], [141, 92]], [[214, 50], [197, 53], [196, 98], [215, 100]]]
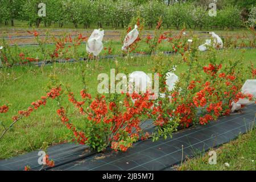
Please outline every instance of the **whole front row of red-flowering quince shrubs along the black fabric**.
[[[181, 32], [175, 39], [181, 39], [182, 35]], [[159, 91], [164, 97], [150, 100], [154, 94], [146, 92], [115, 93], [92, 98], [86, 89], [82, 89], [79, 101], [68, 89], [68, 100], [77, 112], [69, 114], [64, 109], [67, 107], [60, 106], [57, 114], [61, 122], [72, 131], [78, 143], [90, 146], [92, 151], [104, 151], [111, 147], [124, 152], [138, 140], [167, 138], [178, 127], [206, 125], [228, 115], [232, 102], [240, 98], [252, 100], [252, 96], [242, 94], [240, 89], [247, 78], [255, 77], [254, 65], [251, 64], [247, 69], [238, 64], [241, 60], [227, 63], [224, 60], [217, 61], [217, 50], [213, 48], [209, 49], [207, 60], [202, 63], [198, 59], [199, 52], [194, 40], [189, 50], [177, 47], [182, 50], [177, 51], [182, 56], [181, 61], [189, 69], [181, 73], [173, 90], [167, 89], [166, 77], [168, 72], [175, 72], [175, 69], [167, 69], [170, 63], [163, 63], [161, 55], [152, 56], [153, 71], [159, 75]], [[175, 65], [171, 68], [175, 68]], [[83, 128], [73, 124], [74, 115], [80, 121], [82, 118]], [[153, 133], [146, 132], [146, 127], [142, 128], [147, 119], [152, 119], [149, 126], [155, 127]]]

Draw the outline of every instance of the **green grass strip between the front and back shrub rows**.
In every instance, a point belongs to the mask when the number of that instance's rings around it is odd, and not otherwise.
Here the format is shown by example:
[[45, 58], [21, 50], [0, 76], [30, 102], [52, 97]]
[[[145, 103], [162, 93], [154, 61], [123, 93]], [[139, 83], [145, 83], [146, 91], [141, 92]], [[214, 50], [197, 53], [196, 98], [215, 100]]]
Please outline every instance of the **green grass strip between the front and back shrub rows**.
[[[200, 53], [200, 61], [205, 62], [205, 54]], [[241, 60], [241, 64], [245, 67], [250, 62], [256, 62], [256, 52], [253, 49], [248, 50], [224, 50], [218, 51], [218, 60], [225, 61]], [[88, 64], [86, 73], [86, 84], [88, 92], [93, 96], [97, 94], [97, 76], [99, 73], [110, 74], [110, 69], [115, 68], [118, 61], [120, 65], [119, 72], [131, 73], [133, 71], [144, 71], [152, 73], [152, 62], [158, 57], [133, 57], [125, 59], [118, 57], [113, 60], [94, 60]], [[163, 56], [160, 59], [168, 61], [170, 67], [175, 60], [181, 59], [180, 55]], [[175, 62], [177, 63], [177, 61]], [[205, 63], [207, 64], [207, 63]], [[184, 63], [177, 65], [176, 74], [187, 71]], [[16, 115], [18, 110], [27, 109], [32, 101], [40, 99], [47, 90], [49, 75], [56, 75], [64, 85], [70, 85], [72, 92], [79, 95], [82, 89], [80, 63], [66, 63], [47, 65], [42, 68], [25, 65], [22, 67], [0, 69], [0, 105], [10, 104], [10, 110], [4, 115], [0, 115], [0, 121], [5, 125], [10, 125], [11, 117]], [[65, 100], [65, 103], [68, 101]], [[64, 103], [64, 104], [65, 104]], [[23, 154], [24, 152], [36, 150], [40, 148], [43, 142], [49, 145], [70, 141], [72, 134], [59, 121], [56, 110], [56, 101], [48, 101], [44, 108], [40, 108], [31, 114], [30, 117], [24, 118], [17, 123], [6, 135], [0, 140], [0, 159], [10, 158], [11, 156]], [[82, 127], [82, 122], [75, 122], [76, 125]], [[3, 128], [0, 127], [0, 133]]]

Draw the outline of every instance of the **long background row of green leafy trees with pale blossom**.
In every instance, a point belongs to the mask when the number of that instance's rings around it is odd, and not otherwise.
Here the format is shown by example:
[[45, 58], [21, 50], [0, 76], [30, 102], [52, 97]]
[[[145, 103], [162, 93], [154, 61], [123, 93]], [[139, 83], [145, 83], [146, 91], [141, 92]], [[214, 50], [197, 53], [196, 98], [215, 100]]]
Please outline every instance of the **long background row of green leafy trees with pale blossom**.
[[[46, 4], [46, 17], [39, 17], [39, 3]], [[30, 26], [46, 27], [58, 23], [60, 27], [73, 23], [75, 27], [82, 24], [84, 28], [126, 27], [134, 16], [140, 14], [146, 26], [155, 26], [162, 17], [166, 27], [179, 29], [184, 25], [189, 28], [241, 27], [241, 10], [237, 6], [226, 5], [217, 9], [217, 16], [209, 16], [209, 7], [193, 3], [174, 3], [164, 1], [147, 1], [142, 4], [133, 0], [0, 0], [0, 23], [14, 26], [14, 20], [24, 20]], [[251, 9], [250, 24], [255, 26], [255, 7]]]

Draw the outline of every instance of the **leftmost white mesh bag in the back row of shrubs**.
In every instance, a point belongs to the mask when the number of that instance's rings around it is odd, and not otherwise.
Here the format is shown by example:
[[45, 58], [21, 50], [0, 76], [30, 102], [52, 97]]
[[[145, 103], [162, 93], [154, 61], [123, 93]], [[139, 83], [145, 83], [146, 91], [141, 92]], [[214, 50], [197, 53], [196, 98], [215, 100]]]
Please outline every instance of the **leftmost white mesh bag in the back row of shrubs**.
[[104, 30], [94, 30], [87, 41], [86, 51], [88, 53], [92, 53], [94, 56], [98, 56], [103, 49], [103, 37]]

